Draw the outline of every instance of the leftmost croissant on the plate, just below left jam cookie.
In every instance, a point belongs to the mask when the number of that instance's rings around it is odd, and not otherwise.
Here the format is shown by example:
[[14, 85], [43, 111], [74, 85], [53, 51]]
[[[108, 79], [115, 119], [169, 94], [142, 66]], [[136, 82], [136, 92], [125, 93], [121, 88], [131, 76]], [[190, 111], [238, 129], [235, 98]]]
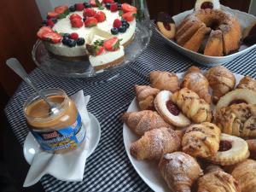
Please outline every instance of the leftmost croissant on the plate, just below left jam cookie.
[[158, 113], [150, 110], [124, 113], [122, 119], [131, 131], [139, 136], [143, 136], [146, 131], [160, 127], [172, 128], [172, 125], [167, 124]]

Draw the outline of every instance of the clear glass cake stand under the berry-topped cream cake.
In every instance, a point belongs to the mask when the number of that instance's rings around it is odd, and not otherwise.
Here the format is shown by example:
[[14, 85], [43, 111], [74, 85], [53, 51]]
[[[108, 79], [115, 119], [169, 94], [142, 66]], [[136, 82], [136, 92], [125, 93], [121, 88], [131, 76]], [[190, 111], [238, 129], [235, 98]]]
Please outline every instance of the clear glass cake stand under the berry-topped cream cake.
[[151, 24], [148, 20], [137, 20], [134, 39], [131, 44], [125, 48], [125, 60], [115, 67], [109, 67], [102, 71], [95, 72], [94, 68], [90, 65], [90, 61], [58, 60], [52, 55], [49, 55], [49, 52], [45, 49], [41, 40], [38, 40], [33, 46], [32, 59], [44, 72], [61, 77], [89, 78], [116, 71], [121, 67], [125, 67], [129, 62], [136, 60], [147, 48], [152, 35]]

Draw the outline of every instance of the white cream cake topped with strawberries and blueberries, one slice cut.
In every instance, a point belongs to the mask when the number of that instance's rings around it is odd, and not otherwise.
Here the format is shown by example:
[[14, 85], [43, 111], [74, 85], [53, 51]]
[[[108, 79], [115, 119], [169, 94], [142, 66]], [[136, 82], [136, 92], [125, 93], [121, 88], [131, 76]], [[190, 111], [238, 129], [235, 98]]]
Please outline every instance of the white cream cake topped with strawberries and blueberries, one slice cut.
[[[124, 49], [134, 38], [136, 13], [136, 7], [113, 0], [58, 6], [48, 12], [38, 38], [58, 59], [89, 60], [96, 70], [103, 69], [124, 60]], [[96, 38], [102, 44], [95, 44]], [[103, 41], [112, 42], [114, 49], [106, 49]]]

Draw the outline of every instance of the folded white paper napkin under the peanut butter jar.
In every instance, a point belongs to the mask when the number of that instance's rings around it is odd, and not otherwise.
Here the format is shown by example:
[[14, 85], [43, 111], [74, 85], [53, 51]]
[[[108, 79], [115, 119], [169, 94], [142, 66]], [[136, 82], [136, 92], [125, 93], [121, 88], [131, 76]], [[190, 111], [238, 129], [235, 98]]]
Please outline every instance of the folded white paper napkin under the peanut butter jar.
[[50, 174], [64, 181], [83, 180], [84, 166], [89, 149], [88, 141], [90, 140], [90, 119], [86, 109], [90, 96], [84, 96], [84, 91], [80, 90], [71, 96], [71, 99], [75, 102], [81, 115], [82, 124], [86, 129], [84, 142], [81, 143], [80, 148], [66, 154], [50, 154], [44, 151], [35, 154], [23, 187], [38, 183], [45, 174]]

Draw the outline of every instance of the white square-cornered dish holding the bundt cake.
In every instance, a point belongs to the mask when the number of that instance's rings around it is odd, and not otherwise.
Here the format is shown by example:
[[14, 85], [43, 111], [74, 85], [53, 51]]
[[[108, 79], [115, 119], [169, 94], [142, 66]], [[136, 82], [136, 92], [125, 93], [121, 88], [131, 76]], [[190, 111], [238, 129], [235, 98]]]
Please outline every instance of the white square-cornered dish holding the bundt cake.
[[[245, 28], [247, 28], [247, 26], [251, 26], [253, 23], [256, 22], [255, 16], [249, 15], [245, 12], [230, 9], [223, 5], [221, 6], [221, 9], [224, 10], [224, 12], [228, 12], [233, 15], [236, 15], [236, 17], [238, 18], [238, 20], [241, 24], [241, 30], [242, 30], [241, 32], [243, 32], [243, 30]], [[189, 15], [192, 12], [193, 12], [193, 10], [185, 11], [181, 14], [173, 16], [172, 19], [175, 21], [176, 25], [178, 25], [186, 15]], [[196, 63], [199, 63], [202, 66], [206, 66], [206, 67], [218, 66], [218, 65], [224, 64], [225, 62], [232, 61], [237, 56], [244, 55], [248, 51], [250, 51], [251, 49], [256, 47], [256, 44], [253, 44], [253, 46], [250, 46], [250, 47], [247, 47], [246, 45], [241, 45], [239, 51], [234, 54], [231, 54], [231, 55], [207, 56], [207, 55], [202, 55], [200, 53], [196, 53], [189, 49], [184, 49], [182, 46], [176, 44], [174, 41], [164, 37], [162, 35], [162, 33], [157, 28], [156, 28], [156, 31], [165, 39], [166, 44], [169, 44], [173, 49], [176, 49], [181, 54], [188, 56], [191, 60], [195, 61]]]

